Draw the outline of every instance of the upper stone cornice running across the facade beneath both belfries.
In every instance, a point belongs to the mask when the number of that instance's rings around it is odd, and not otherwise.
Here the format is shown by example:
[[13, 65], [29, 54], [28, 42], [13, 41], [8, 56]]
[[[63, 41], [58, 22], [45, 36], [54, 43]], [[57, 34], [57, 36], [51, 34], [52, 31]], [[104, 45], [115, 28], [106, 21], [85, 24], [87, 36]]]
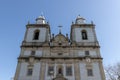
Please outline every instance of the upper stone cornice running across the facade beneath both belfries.
[[46, 48], [46, 47], [49, 47], [49, 48], [86, 48], [86, 47], [89, 47], [89, 48], [100, 48], [99, 44], [95, 44], [95, 43], [80, 44], [78, 42], [76, 44], [60, 45], [59, 46], [59, 45], [49, 45], [49, 42], [24, 42], [24, 41], [22, 42], [21, 48], [22, 47], [43, 47], [43, 48]]

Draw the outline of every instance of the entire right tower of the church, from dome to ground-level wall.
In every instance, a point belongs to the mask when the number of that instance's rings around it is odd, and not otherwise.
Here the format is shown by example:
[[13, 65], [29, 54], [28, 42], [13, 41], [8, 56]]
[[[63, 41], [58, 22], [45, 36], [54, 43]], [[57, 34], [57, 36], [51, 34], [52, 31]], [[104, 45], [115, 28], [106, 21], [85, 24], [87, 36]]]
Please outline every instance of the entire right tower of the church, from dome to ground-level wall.
[[70, 40], [74, 54], [82, 60], [79, 62], [80, 79], [76, 80], [105, 80], [100, 45], [93, 22], [86, 23], [83, 17], [77, 16], [71, 25]]

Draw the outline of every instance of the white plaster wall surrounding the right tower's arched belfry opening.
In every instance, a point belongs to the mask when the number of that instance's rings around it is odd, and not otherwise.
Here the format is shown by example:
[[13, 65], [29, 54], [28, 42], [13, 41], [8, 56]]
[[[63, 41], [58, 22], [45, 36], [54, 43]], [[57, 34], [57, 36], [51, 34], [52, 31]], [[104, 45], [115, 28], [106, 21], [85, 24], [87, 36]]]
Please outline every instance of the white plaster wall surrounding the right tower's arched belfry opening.
[[[81, 31], [82, 30], [86, 30], [87, 31], [87, 36], [88, 36], [88, 40], [82, 40], [82, 35], [81, 35]], [[94, 42], [94, 33], [92, 31], [92, 28], [75, 28], [75, 41], [76, 42]]]

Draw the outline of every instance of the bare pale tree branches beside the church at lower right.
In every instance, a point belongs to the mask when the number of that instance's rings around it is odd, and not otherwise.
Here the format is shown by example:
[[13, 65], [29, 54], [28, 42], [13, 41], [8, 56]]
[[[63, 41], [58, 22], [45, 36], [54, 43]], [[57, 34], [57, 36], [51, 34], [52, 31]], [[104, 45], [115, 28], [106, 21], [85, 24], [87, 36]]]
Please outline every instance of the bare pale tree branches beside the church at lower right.
[[120, 63], [105, 68], [106, 80], [120, 80]]

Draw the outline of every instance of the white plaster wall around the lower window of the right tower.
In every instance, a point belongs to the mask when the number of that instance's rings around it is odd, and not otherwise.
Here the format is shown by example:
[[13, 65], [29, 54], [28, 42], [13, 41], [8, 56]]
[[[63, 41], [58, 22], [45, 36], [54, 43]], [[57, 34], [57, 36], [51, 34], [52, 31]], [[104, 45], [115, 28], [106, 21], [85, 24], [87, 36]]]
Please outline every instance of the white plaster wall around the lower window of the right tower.
[[101, 74], [98, 63], [92, 63], [93, 76], [87, 76], [87, 68], [85, 63], [80, 63], [81, 80], [101, 80]]

